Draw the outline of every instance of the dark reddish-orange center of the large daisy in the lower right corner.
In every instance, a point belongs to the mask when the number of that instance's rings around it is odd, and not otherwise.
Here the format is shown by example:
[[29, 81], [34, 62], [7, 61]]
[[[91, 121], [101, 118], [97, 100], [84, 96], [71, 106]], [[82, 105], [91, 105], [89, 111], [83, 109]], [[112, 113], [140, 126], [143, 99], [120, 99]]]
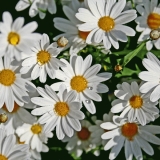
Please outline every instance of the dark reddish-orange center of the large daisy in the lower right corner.
[[126, 123], [121, 128], [123, 136], [132, 141], [133, 137], [138, 133], [138, 126], [135, 123]]

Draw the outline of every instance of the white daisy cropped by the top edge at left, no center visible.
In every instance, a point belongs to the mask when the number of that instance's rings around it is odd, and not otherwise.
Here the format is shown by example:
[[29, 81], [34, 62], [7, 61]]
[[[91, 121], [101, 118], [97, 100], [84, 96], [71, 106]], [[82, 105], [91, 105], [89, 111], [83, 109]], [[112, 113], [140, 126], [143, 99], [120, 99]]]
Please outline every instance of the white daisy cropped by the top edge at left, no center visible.
[[54, 14], [57, 11], [55, 0], [19, 0], [16, 4], [15, 9], [17, 11], [22, 11], [29, 6], [29, 16], [34, 17], [39, 13], [39, 17], [44, 19], [46, 12]]

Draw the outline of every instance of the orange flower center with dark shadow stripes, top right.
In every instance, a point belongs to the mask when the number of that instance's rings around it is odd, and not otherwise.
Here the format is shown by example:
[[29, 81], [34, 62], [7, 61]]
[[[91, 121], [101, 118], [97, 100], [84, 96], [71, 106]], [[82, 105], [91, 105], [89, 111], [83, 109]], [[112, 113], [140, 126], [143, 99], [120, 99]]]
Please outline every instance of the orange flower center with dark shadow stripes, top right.
[[157, 13], [151, 13], [148, 16], [147, 24], [151, 29], [158, 29], [160, 27], [160, 15]]

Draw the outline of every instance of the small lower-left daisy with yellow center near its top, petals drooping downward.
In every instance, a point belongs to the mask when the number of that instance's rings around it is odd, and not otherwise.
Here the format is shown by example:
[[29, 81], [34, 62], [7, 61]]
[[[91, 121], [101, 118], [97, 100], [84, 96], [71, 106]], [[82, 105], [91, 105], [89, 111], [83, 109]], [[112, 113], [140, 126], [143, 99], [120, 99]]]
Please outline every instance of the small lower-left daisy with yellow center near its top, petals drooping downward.
[[19, 141], [24, 144], [29, 144], [32, 150], [42, 152], [43, 150], [49, 150], [48, 147], [43, 144], [47, 143], [48, 138], [53, 137], [52, 132], [45, 132], [44, 126], [35, 122], [33, 124], [24, 123], [16, 129], [16, 134], [19, 137]]

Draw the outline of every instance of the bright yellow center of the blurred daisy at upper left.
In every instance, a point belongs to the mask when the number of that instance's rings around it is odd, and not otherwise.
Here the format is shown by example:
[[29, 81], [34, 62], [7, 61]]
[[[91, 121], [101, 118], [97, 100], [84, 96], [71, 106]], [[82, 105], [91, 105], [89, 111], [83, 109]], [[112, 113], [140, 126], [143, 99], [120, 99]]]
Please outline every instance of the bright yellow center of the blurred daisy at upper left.
[[8, 42], [16, 46], [20, 41], [20, 36], [15, 32], [10, 32], [8, 35]]

